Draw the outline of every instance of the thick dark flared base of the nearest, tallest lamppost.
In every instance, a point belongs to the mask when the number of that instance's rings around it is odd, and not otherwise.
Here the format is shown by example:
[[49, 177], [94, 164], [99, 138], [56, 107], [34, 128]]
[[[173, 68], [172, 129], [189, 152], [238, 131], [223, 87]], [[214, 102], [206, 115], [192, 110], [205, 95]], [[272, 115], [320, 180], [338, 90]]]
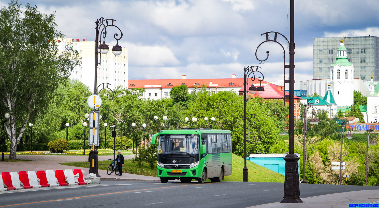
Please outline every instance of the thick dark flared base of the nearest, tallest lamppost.
[[285, 160], [284, 197], [281, 203], [300, 203], [299, 171], [296, 154], [287, 154]]

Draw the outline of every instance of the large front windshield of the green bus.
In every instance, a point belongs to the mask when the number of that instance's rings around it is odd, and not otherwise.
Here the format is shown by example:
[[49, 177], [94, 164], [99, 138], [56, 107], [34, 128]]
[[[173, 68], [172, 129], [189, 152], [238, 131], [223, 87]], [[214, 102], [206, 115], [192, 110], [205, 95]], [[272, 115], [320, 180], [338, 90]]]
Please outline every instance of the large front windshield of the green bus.
[[158, 154], [188, 153], [199, 154], [199, 135], [197, 134], [161, 134]]

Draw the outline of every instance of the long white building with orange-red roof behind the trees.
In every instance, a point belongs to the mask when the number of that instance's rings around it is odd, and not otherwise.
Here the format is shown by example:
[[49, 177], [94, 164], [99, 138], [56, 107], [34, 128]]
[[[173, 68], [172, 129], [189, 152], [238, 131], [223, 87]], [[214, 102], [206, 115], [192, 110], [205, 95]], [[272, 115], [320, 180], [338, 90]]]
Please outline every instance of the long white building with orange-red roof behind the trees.
[[[239, 89], [243, 86], [243, 78], [237, 78], [232, 74], [230, 79], [186, 79], [186, 75], [182, 75], [182, 79], [143, 79], [128, 80], [128, 89], [143, 88], [145, 92], [140, 98], [158, 100], [170, 97], [171, 88], [179, 85], [187, 85], [188, 92], [193, 93], [195, 86], [201, 88], [201, 85], [207, 87], [207, 91], [217, 93], [219, 91], [234, 91], [239, 94]], [[258, 81], [254, 82], [259, 85]], [[262, 81], [261, 84], [267, 85], [268, 82]]]

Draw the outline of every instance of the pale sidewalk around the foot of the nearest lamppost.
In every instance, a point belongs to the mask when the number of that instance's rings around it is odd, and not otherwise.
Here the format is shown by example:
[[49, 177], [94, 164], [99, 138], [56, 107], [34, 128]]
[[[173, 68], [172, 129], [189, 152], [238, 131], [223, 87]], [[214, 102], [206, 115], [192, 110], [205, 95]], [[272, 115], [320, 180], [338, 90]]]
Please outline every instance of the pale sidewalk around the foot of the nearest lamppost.
[[249, 208], [339, 208], [349, 207], [349, 203], [379, 203], [379, 190], [350, 191], [301, 198], [304, 203], [268, 203]]

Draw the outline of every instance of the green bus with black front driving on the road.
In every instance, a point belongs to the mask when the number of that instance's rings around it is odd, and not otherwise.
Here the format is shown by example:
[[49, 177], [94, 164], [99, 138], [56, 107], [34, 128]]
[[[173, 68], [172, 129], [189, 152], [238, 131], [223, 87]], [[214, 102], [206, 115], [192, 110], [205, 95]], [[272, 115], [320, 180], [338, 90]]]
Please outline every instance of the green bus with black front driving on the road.
[[162, 183], [179, 179], [189, 183], [207, 178], [221, 182], [232, 175], [232, 140], [230, 131], [207, 128], [163, 130], [158, 138], [157, 176]]

